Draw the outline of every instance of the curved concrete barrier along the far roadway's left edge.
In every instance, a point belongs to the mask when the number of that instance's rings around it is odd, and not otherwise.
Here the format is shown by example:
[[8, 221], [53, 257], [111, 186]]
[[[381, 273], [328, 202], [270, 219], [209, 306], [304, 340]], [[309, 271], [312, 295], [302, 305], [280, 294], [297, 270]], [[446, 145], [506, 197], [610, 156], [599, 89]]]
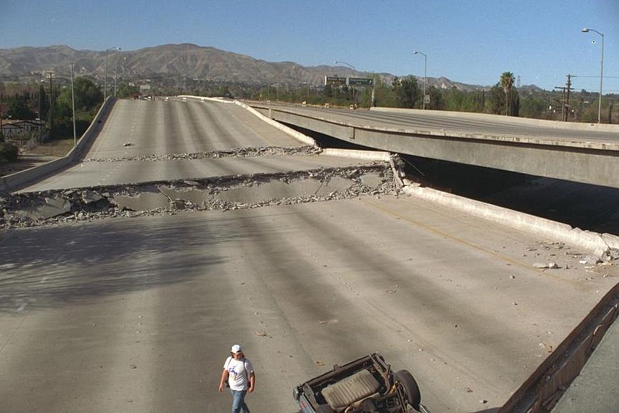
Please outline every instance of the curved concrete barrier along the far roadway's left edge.
[[88, 150], [90, 150], [97, 135], [99, 135], [105, 119], [107, 119], [109, 112], [114, 107], [114, 102], [116, 102], [114, 97], [107, 98], [95, 115], [93, 122], [90, 123], [86, 132], [80, 137], [79, 142], [66, 156], [0, 178], [0, 194], [27, 187], [81, 161], [83, 156], [86, 156]]

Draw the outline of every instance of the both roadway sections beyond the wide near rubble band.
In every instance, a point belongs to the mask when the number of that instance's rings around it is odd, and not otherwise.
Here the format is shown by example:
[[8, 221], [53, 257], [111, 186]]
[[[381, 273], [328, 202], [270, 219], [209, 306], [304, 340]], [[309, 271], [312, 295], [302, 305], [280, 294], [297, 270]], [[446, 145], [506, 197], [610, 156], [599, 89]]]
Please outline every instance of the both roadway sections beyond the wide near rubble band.
[[[130, 146], [124, 146], [130, 143]], [[358, 165], [332, 156], [105, 161], [247, 147], [302, 146], [236, 104], [118, 100], [83, 162], [23, 191]]]

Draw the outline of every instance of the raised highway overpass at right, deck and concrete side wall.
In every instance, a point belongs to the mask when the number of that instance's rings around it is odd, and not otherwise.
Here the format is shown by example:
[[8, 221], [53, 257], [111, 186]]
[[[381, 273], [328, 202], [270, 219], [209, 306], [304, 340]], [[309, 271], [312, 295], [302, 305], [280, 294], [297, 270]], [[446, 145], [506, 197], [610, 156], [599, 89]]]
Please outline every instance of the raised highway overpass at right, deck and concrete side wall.
[[619, 187], [619, 126], [489, 114], [253, 103], [292, 126], [384, 151]]

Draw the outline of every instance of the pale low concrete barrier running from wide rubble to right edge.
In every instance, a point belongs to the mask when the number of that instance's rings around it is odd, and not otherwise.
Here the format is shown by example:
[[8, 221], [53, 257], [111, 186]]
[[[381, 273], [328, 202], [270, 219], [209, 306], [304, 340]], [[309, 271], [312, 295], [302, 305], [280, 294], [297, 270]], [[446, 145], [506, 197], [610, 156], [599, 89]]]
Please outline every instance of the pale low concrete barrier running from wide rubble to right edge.
[[491, 222], [533, 233], [536, 236], [562, 241], [589, 252], [596, 259], [601, 259], [610, 248], [615, 248], [619, 244], [618, 238], [611, 234], [604, 234], [603, 236], [597, 232], [583, 231], [579, 228], [572, 228], [568, 224], [474, 201], [454, 194], [447, 194], [435, 189], [407, 184], [403, 191], [405, 194], [482, 217]]

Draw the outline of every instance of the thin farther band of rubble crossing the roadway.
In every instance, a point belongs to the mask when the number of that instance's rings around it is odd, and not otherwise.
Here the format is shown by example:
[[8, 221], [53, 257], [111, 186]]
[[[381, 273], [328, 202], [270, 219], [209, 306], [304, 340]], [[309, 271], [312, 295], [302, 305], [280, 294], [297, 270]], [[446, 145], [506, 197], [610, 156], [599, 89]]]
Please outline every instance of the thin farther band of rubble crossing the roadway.
[[318, 155], [322, 152], [319, 147], [247, 147], [223, 149], [219, 151], [195, 152], [192, 154], [163, 154], [144, 156], [125, 156], [122, 158], [88, 158], [83, 162], [124, 162], [124, 161], [177, 161], [182, 159], [206, 158], [249, 158], [252, 156], [294, 156]]

